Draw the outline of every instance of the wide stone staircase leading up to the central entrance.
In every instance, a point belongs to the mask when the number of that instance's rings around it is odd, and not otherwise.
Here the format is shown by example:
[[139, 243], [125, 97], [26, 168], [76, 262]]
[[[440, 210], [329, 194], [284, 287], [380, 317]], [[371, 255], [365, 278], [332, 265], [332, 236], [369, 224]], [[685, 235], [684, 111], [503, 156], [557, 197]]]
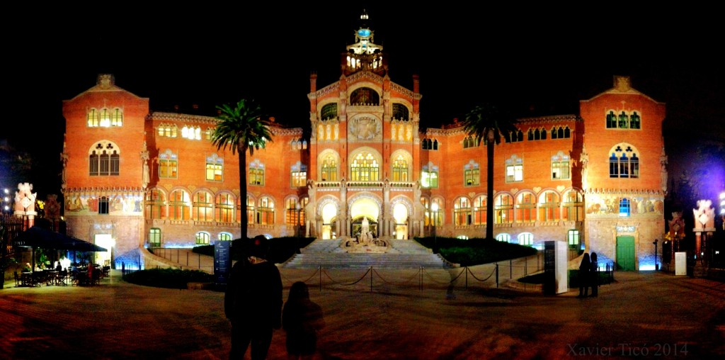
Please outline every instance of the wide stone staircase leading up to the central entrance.
[[282, 264], [285, 269], [449, 269], [455, 264], [415, 240], [389, 240], [386, 253], [347, 253], [341, 239], [315, 240]]

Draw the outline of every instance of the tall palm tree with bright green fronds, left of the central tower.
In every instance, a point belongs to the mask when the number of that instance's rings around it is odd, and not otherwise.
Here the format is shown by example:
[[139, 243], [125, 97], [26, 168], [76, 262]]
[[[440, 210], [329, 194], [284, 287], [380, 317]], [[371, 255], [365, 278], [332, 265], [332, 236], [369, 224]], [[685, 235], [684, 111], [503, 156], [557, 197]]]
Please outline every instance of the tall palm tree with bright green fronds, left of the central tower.
[[272, 141], [272, 134], [269, 122], [262, 119], [260, 105], [254, 101], [241, 99], [236, 107], [225, 104], [217, 110], [218, 123], [212, 134], [212, 144], [217, 150], [229, 147], [232, 154], [239, 154], [239, 196], [243, 211], [240, 237], [247, 239], [247, 150], [249, 155], [254, 155], [254, 150], [264, 149], [266, 142]]

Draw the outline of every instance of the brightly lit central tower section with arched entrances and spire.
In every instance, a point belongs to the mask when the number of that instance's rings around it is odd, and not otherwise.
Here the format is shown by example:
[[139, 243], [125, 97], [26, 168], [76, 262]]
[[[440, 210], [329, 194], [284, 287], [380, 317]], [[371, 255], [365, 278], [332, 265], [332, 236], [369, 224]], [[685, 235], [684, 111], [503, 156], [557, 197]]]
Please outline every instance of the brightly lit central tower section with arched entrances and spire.
[[365, 219], [378, 238], [420, 234], [418, 78], [413, 90], [388, 76], [367, 12], [341, 55], [339, 81], [310, 77], [310, 235], [356, 237]]

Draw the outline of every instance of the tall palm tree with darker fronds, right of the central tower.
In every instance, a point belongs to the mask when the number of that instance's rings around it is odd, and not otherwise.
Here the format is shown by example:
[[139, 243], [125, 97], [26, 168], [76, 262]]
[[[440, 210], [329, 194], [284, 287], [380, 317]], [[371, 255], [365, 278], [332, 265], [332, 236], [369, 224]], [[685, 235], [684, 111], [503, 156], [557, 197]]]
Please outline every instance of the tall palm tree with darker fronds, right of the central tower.
[[465, 115], [463, 129], [476, 142], [486, 141], [486, 239], [494, 239], [494, 144], [516, 130], [516, 120], [494, 105], [479, 105]]

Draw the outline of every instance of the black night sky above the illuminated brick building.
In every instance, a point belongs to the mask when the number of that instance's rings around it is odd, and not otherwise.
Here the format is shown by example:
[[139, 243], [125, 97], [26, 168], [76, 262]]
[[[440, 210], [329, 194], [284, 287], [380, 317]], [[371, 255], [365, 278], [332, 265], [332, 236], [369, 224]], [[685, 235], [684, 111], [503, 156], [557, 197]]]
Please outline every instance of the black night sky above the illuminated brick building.
[[[318, 88], [339, 78], [339, 55], [354, 42], [363, 10], [180, 4], [25, 9], [17, 12], [28, 17], [25, 28], [5, 23], [9, 113], [0, 139], [33, 154], [37, 178], [28, 181], [38, 192], [58, 192], [62, 100], [94, 86], [99, 73], [151, 99], [152, 110], [192, 113], [196, 104], [213, 115], [215, 105], [244, 97], [280, 123], [308, 126], [310, 73]], [[634, 89], [666, 102], [668, 152], [703, 136], [725, 142], [725, 31], [715, 9], [403, 4], [420, 8], [365, 8], [392, 81], [412, 89], [412, 75], [421, 77], [423, 127], [462, 118], [481, 102], [521, 117], [578, 114], [579, 100], [613, 87], [613, 75], [629, 75]]]

